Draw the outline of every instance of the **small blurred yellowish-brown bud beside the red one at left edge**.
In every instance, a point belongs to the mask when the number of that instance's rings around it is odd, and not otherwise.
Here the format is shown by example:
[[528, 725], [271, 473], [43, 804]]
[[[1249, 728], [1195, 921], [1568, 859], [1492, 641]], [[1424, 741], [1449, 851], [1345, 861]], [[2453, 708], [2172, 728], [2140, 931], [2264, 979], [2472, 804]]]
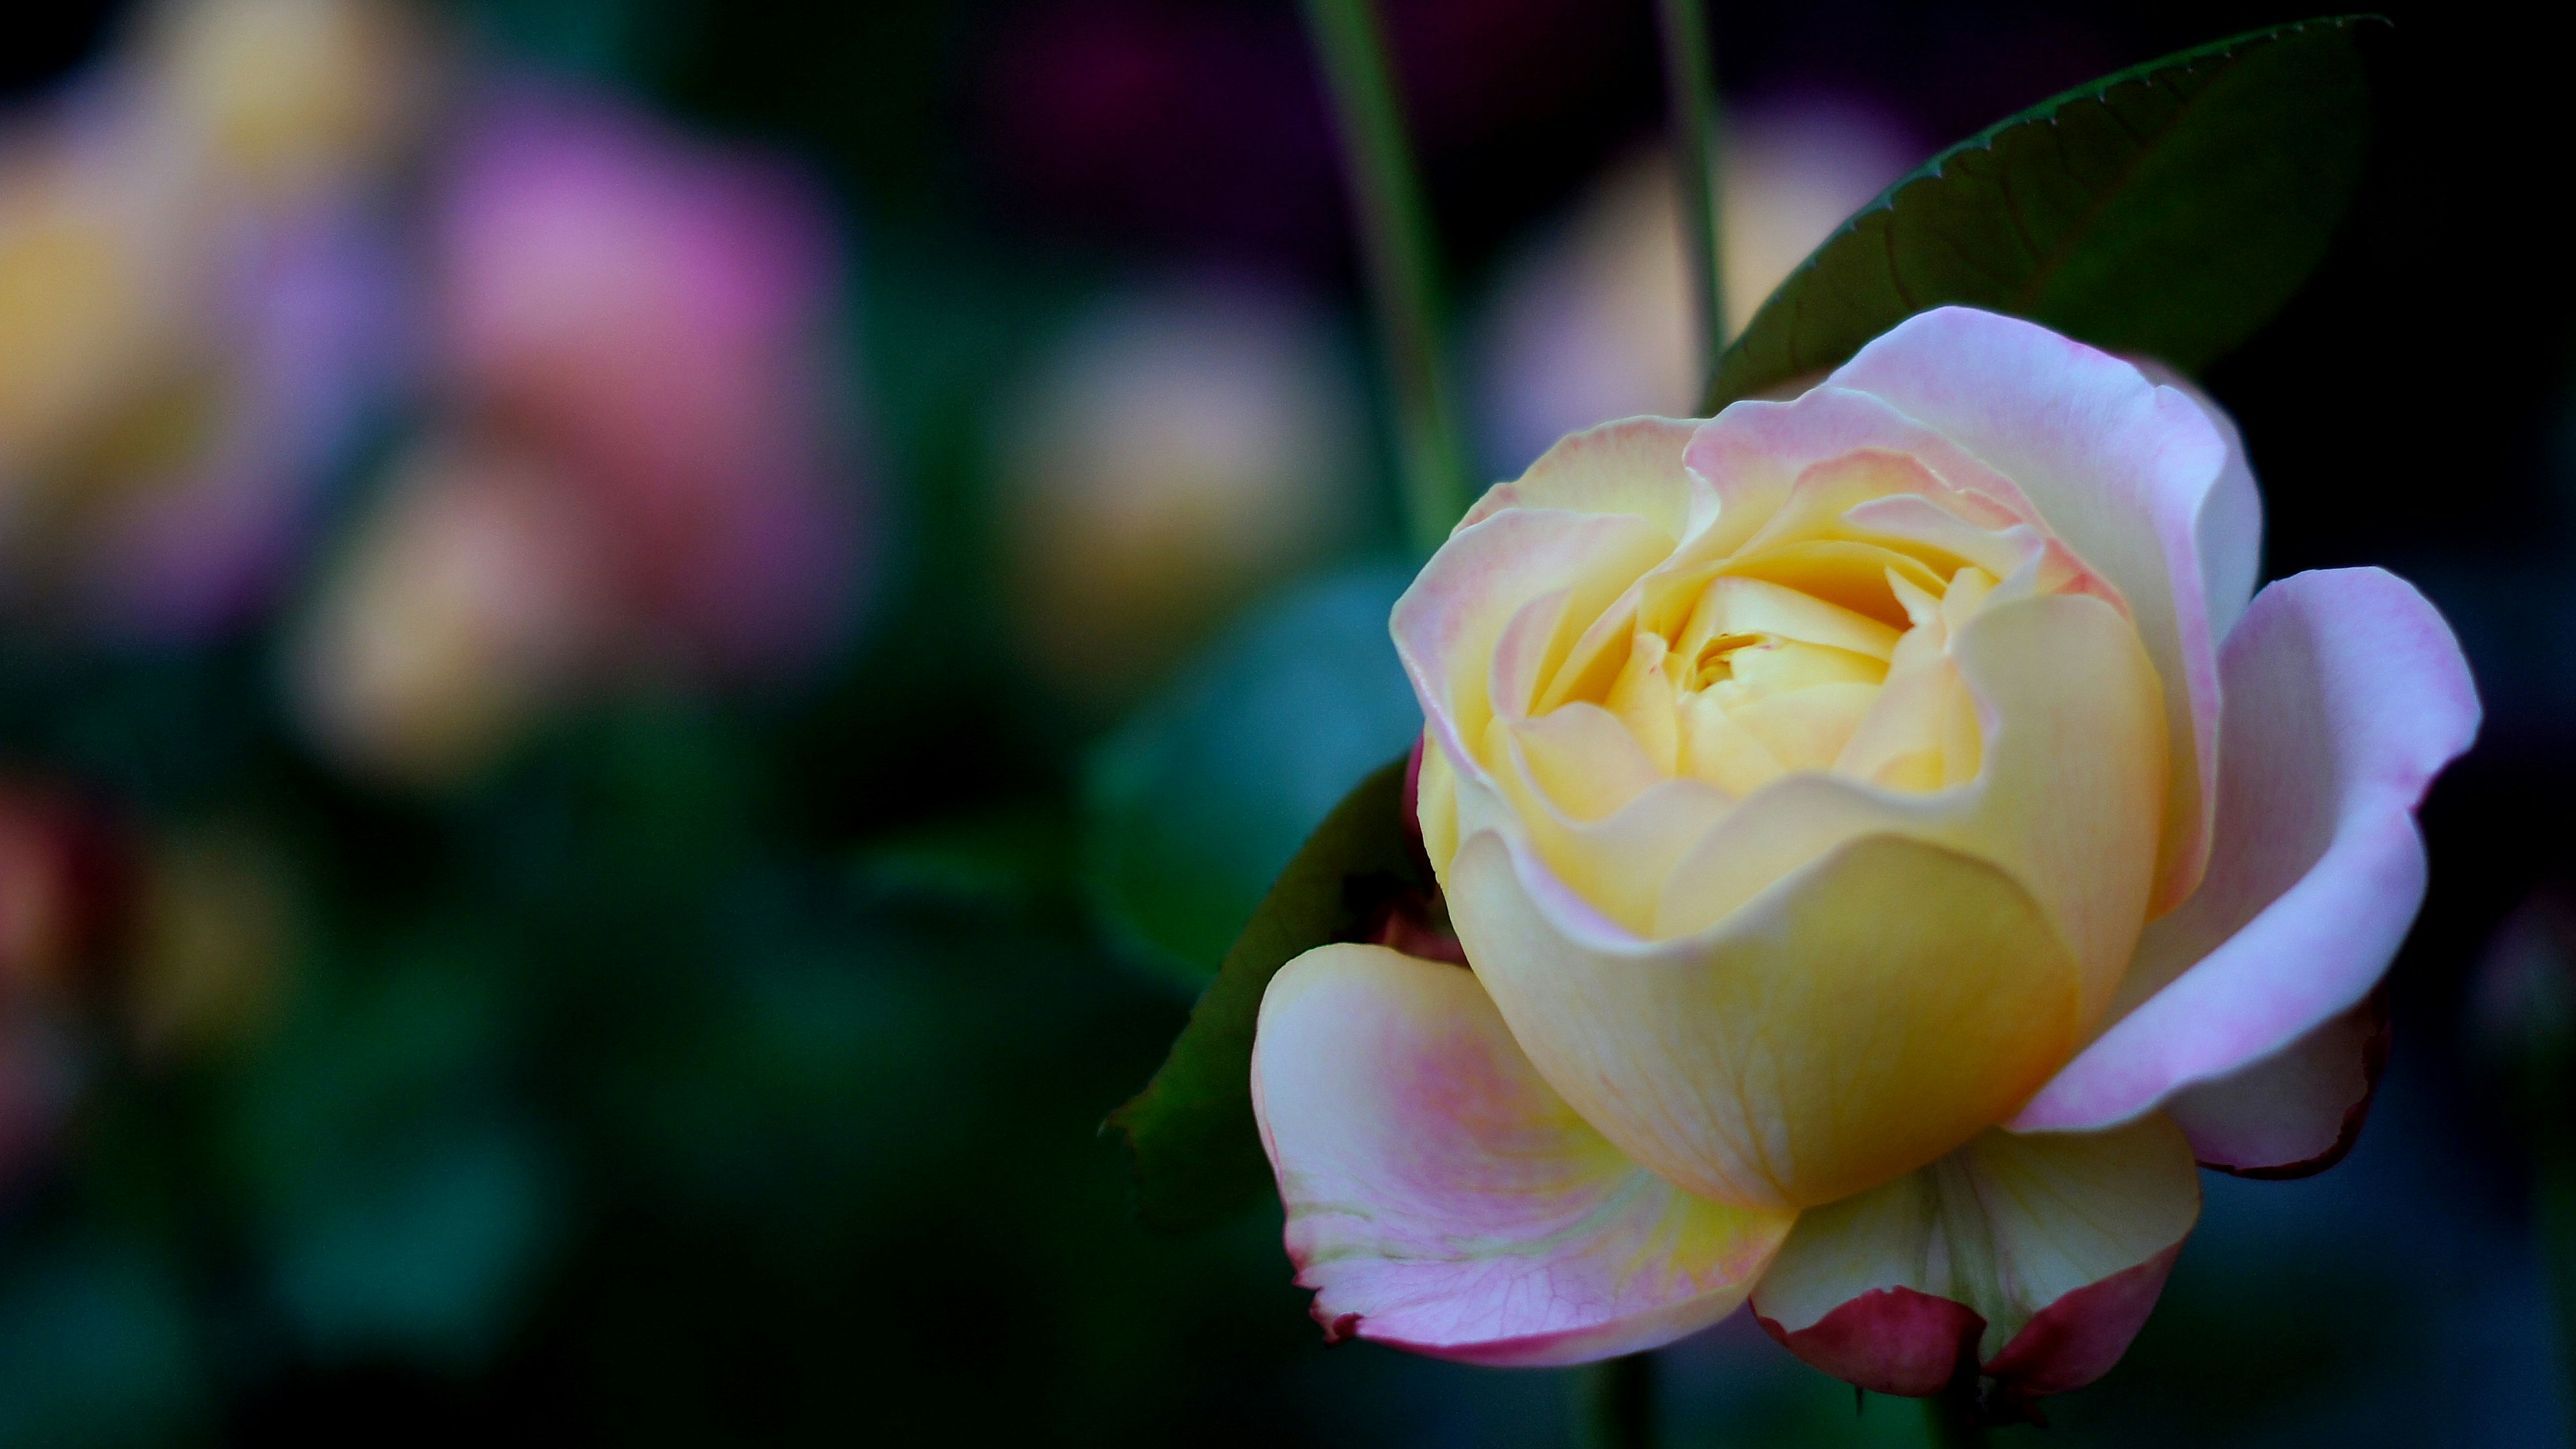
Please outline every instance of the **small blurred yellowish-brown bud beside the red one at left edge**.
[[301, 946], [289, 861], [242, 828], [155, 838], [134, 882], [126, 1026], [147, 1060], [222, 1052], [268, 1024]]

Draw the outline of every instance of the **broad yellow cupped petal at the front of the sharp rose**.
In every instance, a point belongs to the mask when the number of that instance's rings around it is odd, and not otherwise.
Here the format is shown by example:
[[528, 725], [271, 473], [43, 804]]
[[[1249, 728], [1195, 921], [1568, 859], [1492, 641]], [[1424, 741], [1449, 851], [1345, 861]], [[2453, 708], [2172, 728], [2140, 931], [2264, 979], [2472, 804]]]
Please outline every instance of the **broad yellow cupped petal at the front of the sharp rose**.
[[1976, 856], [1862, 835], [1677, 941], [1636, 941], [1468, 835], [1450, 923], [1530, 1062], [1610, 1142], [1747, 1207], [1878, 1186], [2009, 1114], [2076, 1042], [2079, 972]]

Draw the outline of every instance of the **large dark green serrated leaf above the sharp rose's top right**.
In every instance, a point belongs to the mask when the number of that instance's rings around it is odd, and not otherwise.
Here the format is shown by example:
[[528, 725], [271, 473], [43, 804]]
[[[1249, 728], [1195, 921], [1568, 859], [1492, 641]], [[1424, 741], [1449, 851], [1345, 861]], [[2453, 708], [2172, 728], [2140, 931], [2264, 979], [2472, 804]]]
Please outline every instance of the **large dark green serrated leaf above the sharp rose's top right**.
[[2308, 278], [2360, 186], [2367, 15], [2187, 49], [1940, 152], [1754, 312], [1708, 410], [1842, 364], [1945, 304], [2197, 371]]

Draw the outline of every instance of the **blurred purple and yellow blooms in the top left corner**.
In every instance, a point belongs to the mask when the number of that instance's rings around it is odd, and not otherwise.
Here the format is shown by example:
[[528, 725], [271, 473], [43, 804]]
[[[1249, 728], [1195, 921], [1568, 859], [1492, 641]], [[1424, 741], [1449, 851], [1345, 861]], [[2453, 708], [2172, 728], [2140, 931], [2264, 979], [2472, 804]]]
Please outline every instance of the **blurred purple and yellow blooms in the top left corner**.
[[435, 70], [381, 0], [183, 0], [0, 137], [5, 603], [198, 642], [258, 611], [394, 382], [371, 217]]

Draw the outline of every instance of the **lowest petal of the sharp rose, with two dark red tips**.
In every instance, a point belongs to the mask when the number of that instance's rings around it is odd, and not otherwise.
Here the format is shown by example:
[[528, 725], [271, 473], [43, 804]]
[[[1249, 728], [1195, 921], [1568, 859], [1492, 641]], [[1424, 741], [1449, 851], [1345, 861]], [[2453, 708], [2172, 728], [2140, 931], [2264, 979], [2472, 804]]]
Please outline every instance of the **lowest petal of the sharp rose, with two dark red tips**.
[[2164, 1116], [1989, 1132], [1801, 1217], [1754, 1315], [1865, 1390], [1932, 1395], [1973, 1354], [2009, 1392], [2063, 1392], [2120, 1359], [2197, 1217], [2192, 1150]]

